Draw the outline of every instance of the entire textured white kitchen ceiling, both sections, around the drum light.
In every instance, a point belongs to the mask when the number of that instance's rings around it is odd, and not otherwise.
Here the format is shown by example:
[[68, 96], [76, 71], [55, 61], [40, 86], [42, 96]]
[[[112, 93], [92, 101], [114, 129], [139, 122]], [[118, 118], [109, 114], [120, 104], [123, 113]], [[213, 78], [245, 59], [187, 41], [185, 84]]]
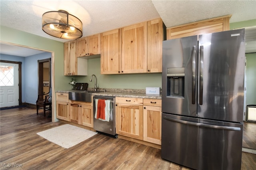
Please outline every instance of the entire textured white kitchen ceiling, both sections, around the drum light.
[[66, 10], [83, 23], [83, 37], [162, 18], [166, 27], [231, 14], [230, 23], [256, 19], [255, 0], [0, 0], [0, 24], [52, 40], [42, 14]]

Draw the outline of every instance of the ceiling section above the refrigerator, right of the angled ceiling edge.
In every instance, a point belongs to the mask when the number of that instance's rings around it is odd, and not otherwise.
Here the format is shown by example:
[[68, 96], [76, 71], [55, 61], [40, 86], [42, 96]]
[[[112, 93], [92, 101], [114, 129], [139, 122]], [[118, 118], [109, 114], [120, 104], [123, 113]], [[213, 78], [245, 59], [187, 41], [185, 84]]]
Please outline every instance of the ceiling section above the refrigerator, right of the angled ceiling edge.
[[166, 27], [232, 15], [230, 23], [256, 19], [255, 0], [152, 0]]

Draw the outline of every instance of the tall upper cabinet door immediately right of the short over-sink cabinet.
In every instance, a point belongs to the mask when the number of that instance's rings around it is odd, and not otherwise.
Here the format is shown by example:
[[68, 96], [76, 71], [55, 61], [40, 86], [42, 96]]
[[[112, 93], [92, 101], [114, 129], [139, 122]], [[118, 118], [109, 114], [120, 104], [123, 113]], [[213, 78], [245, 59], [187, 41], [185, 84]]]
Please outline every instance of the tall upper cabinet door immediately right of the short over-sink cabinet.
[[102, 33], [100, 41], [100, 73], [121, 73], [121, 29]]

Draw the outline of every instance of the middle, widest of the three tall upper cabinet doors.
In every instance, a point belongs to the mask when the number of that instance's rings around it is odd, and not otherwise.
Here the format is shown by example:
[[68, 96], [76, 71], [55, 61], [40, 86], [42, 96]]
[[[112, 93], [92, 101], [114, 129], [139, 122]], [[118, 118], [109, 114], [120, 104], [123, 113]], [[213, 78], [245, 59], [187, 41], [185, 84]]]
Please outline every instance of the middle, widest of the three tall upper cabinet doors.
[[122, 28], [122, 73], [147, 72], [147, 22]]

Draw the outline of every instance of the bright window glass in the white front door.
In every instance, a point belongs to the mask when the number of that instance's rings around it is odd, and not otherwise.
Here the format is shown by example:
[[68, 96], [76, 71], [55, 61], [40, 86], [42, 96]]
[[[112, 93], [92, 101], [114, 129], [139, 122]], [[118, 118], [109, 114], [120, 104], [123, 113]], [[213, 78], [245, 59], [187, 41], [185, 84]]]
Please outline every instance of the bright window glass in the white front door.
[[0, 65], [0, 86], [14, 86], [14, 67]]

